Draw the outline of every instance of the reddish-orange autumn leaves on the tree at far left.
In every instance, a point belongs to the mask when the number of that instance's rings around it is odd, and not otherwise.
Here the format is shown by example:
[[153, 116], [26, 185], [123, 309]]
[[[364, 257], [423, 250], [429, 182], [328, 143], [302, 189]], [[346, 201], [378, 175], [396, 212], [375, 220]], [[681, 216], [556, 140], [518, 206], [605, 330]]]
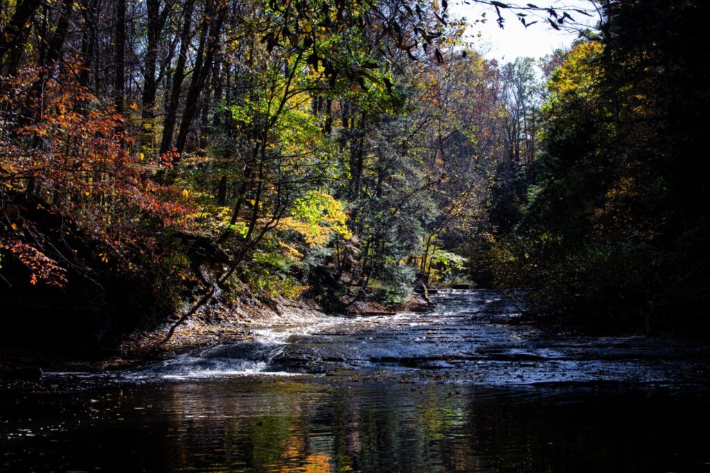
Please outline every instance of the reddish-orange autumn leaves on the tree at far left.
[[[154, 253], [156, 242], [145, 235], [151, 219], [174, 227], [185, 221], [187, 206], [173, 189], [141, 179], [153, 165], [129, 153], [121, 117], [76, 82], [81, 72], [75, 60], [57, 77], [50, 69], [24, 69], [0, 88], [2, 248], [28, 268], [31, 284], [65, 284], [71, 262], [46, 254], [43, 235], [13, 202], [22, 191], [83, 230], [99, 245], [103, 263]], [[21, 108], [38, 87], [41, 108]]]

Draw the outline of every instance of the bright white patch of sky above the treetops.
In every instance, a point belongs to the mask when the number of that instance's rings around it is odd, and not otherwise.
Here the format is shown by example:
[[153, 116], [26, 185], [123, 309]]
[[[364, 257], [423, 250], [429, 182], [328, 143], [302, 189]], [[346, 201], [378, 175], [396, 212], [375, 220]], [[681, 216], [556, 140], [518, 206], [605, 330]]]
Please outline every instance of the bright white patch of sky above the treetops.
[[[524, 5], [525, 3], [527, 1], [518, 4]], [[553, 6], [557, 9], [567, 6], [594, 14], [593, 17], [587, 17], [570, 11], [572, 18], [579, 23], [594, 24], [598, 19], [591, 1], [535, 0], [534, 3], [537, 6]], [[506, 18], [506, 22], [504, 23], [505, 28], [501, 29], [496, 23], [496, 11], [490, 6], [474, 5], [473, 1], [471, 1], [471, 5], [466, 5], [461, 3], [461, 0], [455, 0], [452, 1], [449, 9], [450, 13], [454, 15], [465, 16], [469, 23], [480, 19], [481, 13], [486, 12], [486, 23], [477, 23], [466, 30], [466, 34], [474, 42], [474, 48], [483, 53], [486, 59], [511, 62], [515, 60], [515, 57], [520, 56], [542, 57], [557, 48], [569, 48], [572, 41], [577, 38], [577, 32], [574, 30], [554, 30], [547, 23], [547, 16], [543, 18], [526, 17], [528, 23], [538, 20], [538, 23], [526, 29], [510, 9], [502, 9], [501, 13], [503, 13], [503, 18]], [[480, 37], [478, 33], [481, 33]]]

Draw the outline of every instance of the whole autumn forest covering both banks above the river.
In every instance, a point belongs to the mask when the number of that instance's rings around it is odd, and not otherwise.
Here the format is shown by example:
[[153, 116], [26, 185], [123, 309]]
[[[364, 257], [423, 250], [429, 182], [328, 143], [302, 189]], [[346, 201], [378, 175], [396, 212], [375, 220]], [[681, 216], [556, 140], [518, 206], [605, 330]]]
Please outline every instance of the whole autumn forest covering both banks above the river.
[[[472, 3], [0, 0], [4, 343], [445, 286], [706, 335], [710, 5]], [[507, 63], [464, 35], [581, 19]]]

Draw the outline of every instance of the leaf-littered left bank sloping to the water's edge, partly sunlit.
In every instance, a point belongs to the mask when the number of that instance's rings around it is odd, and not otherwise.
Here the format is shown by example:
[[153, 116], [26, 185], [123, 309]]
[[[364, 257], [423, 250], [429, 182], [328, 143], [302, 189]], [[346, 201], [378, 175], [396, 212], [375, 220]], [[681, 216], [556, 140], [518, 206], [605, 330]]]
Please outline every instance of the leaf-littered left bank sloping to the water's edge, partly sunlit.
[[[399, 306], [400, 310], [426, 311], [430, 304], [420, 294]], [[346, 317], [387, 316], [394, 312], [380, 304], [353, 304]], [[139, 328], [124, 335], [109, 350], [74, 350], [62, 352], [61, 345], [50, 349], [39, 346], [16, 346], [0, 343], [0, 379], [24, 379], [28, 369], [44, 371], [102, 371], [140, 365], [219, 344], [249, 340], [254, 329], [281, 330], [293, 325], [317, 325], [330, 314], [312, 301], [273, 298], [265, 303], [256, 298], [242, 298], [238, 304], [226, 306], [214, 302], [204, 306], [194, 316], [180, 323], [166, 340], [173, 316], [155, 328]]]

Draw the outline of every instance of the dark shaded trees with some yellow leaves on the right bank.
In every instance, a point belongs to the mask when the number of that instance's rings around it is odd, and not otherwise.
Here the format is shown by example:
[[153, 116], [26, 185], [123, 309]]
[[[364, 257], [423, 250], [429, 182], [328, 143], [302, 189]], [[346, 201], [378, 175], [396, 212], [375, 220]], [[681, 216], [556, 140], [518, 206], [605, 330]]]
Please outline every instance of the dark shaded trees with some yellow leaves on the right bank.
[[702, 126], [689, 117], [709, 96], [687, 78], [707, 74], [690, 46], [707, 6], [660, 3], [608, 2], [602, 35], [552, 72], [517, 220], [477, 245], [498, 284], [537, 287], [539, 309], [646, 330], [706, 311]]

